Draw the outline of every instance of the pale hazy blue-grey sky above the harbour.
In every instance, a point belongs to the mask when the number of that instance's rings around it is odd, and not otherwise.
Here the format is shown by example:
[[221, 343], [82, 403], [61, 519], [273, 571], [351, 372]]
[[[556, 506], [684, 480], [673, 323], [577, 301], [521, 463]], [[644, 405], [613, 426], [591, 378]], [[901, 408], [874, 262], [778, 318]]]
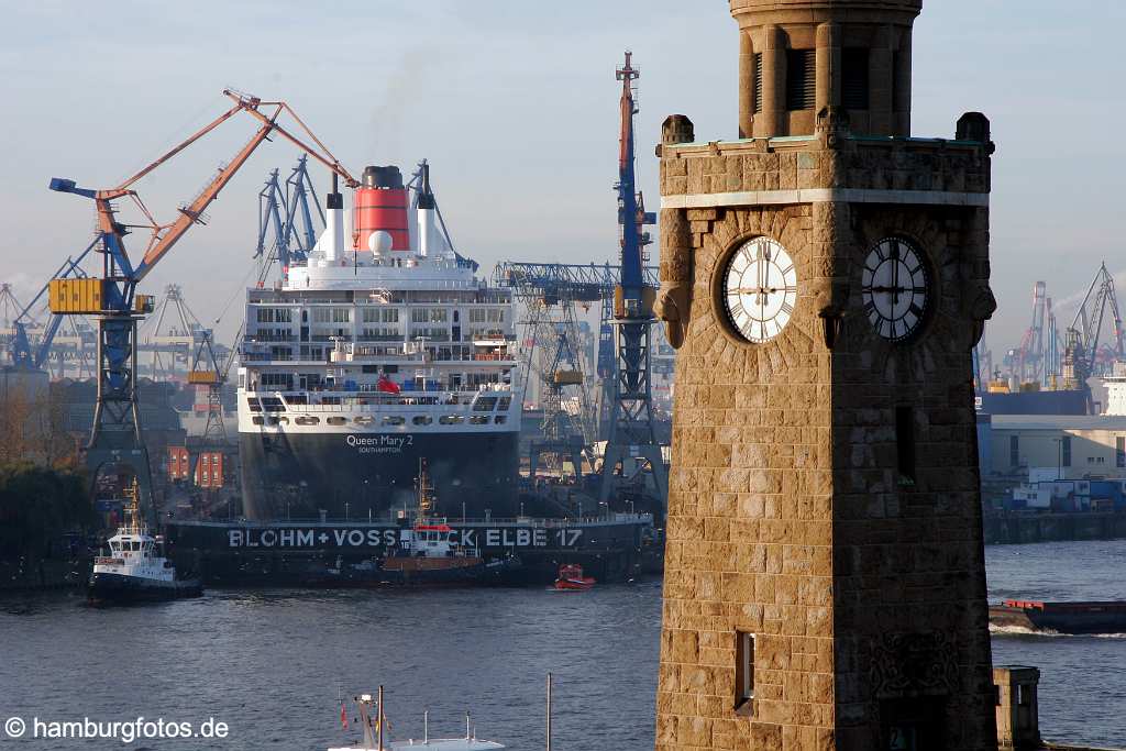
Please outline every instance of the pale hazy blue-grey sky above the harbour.
[[[0, 277], [23, 296], [91, 236], [90, 202], [48, 191], [50, 178], [116, 185], [223, 111], [224, 87], [286, 99], [355, 173], [431, 160], [454, 241], [485, 268], [614, 258], [614, 68], [626, 47], [642, 69], [638, 153], [651, 207], [665, 115], [687, 114], [701, 138], [735, 137], [738, 41], [722, 0], [0, 0]], [[995, 352], [1027, 327], [1036, 279], [1074, 301], [1100, 260], [1126, 271], [1124, 21], [1118, 0], [924, 1], [914, 135], [953, 136], [962, 113], [982, 110], [998, 142]], [[142, 197], [169, 221], [252, 131], [249, 117], [229, 123], [146, 178]], [[205, 321], [234, 299], [220, 327], [233, 332], [257, 193], [295, 158], [284, 143], [259, 149], [146, 292], [180, 284]], [[327, 184], [324, 171], [314, 177]], [[141, 238], [132, 240], [138, 251]]]

